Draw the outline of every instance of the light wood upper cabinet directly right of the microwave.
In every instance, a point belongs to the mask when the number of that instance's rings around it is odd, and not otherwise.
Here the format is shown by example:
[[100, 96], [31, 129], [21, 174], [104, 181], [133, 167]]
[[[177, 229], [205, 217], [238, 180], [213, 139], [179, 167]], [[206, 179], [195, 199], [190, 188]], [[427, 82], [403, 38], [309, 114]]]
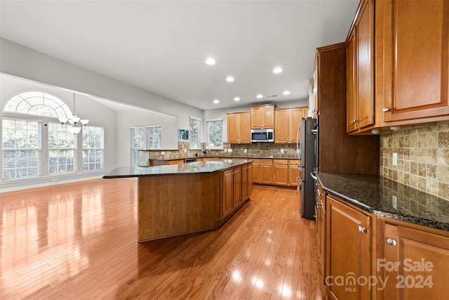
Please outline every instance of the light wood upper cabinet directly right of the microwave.
[[274, 143], [296, 143], [297, 129], [301, 124], [302, 117], [305, 116], [307, 116], [307, 107], [275, 110]]

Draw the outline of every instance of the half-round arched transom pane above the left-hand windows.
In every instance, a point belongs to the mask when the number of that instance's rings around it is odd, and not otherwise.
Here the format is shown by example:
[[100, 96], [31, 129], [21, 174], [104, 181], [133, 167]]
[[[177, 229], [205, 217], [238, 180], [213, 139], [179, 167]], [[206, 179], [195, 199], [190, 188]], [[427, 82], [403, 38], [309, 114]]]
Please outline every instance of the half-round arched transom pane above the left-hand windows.
[[27, 91], [13, 96], [6, 103], [4, 112], [54, 118], [72, 116], [72, 111], [60, 98], [41, 91]]

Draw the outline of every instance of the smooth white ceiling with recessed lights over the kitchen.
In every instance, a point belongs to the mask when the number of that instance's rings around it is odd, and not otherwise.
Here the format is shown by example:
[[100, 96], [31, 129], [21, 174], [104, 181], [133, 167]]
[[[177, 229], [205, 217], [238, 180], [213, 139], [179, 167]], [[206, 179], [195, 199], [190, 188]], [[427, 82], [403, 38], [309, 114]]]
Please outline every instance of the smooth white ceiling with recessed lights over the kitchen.
[[[346, 39], [357, 6], [358, 0], [1, 0], [0, 36], [210, 110], [306, 99], [315, 49]], [[206, 65], [208, 56], [217, 63]], [[276, 66], [281, 74], [272, 72]], [[228, 83], [228, 75], [235, 81]]]

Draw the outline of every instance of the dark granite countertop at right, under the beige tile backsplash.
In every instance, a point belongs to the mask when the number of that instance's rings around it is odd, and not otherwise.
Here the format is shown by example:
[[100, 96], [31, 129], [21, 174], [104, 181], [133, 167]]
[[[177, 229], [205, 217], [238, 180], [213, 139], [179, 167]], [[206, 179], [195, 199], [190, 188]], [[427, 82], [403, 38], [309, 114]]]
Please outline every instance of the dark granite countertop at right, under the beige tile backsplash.
[[370, 214], [449, 231], [449, 201], [375, 175], [319, 172], [331, 195]]

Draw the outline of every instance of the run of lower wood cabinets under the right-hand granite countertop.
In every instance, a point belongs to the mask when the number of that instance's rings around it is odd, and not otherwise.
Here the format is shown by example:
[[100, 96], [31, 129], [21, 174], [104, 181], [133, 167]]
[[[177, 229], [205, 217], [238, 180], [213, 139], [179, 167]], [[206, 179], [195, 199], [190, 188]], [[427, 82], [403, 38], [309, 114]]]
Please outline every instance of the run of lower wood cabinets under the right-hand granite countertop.
[[[329, 299], [447, 299], [449, 232], [369, 214], [317, 186]], [[324, 217], [324, 218], [323, 218]], [[323, 240], [322, 235], [326, 235]]]

